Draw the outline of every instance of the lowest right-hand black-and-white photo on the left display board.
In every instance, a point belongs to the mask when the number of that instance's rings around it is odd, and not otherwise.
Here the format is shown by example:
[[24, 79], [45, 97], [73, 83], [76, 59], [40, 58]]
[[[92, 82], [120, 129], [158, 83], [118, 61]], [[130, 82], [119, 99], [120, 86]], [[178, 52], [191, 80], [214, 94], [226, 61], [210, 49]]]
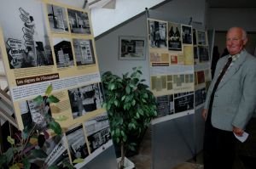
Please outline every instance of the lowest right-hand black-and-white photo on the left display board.
[[101, 150], [104, 150], [104, 144], [111, 140], [107, 113], [85, 121], [84, 126], [90, 143], [90, 153], [96, 151], [96, 149], [100, 150], [101, 147]]

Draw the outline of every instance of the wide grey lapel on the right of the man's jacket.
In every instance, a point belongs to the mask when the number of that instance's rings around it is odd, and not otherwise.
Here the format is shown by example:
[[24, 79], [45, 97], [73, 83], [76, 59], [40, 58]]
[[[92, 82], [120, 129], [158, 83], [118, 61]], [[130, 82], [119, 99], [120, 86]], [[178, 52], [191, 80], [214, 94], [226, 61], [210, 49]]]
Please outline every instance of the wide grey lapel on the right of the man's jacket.
[[243, 62], [245, 61], [246, 55], [247, 55], [247, 54], [241, 54], [241, 56], [240, 56], [240, 57], [233, 63], [233, 65], [230, 67], [230, 69], [226, 71], [226, 73], [225, 73], [225, 75], [224, 75], [222, 81], [219, 82], [218, 89], [219, 89], [220, 87], [223, 87], [224, 84], [225, 84], [226, 82], [228, 82], [232, 76], [235, 76], [236, 71], [241, 68], [241, 65], [242, 65]]

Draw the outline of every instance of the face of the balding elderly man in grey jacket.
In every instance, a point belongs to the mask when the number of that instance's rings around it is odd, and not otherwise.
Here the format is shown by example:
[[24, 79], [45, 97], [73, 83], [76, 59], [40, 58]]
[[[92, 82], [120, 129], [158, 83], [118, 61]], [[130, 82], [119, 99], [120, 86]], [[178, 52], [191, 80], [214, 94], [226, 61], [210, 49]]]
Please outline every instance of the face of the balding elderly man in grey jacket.
[[230, 29], [227, 33], [226, 47], [231, 55], [238, 54], [246, 44], [247, 38], [242, 39], [241, 28]]

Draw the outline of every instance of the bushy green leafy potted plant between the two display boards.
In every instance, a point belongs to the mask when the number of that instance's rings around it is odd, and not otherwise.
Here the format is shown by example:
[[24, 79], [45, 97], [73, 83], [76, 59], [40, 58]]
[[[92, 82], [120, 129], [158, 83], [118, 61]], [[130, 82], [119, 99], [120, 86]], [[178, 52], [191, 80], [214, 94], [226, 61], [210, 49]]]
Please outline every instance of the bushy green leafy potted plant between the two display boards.
[[108, 111], [113, 143], [119, 145], [121, 160], [119, 168], [124, 168], [125, 152], [135, 150], [137, 145], [130, 136], [140, 137], [151, 119], [157, 115], [156, 99], [141, 79], [141, 67], [132, 68], [122, 77], [110, 71], [103, 73], [102, 85], [105, 101], [102, 106]]

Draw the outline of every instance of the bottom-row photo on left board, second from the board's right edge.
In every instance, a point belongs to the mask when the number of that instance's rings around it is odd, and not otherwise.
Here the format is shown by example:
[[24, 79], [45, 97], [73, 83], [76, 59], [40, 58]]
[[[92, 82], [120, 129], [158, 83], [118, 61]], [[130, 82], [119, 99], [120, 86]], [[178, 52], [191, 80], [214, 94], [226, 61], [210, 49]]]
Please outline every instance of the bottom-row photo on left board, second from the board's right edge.
[[82, 125], [68, 130], [66, 137], [72, 161], [75, 159], [85, 159], [89, 155]]

